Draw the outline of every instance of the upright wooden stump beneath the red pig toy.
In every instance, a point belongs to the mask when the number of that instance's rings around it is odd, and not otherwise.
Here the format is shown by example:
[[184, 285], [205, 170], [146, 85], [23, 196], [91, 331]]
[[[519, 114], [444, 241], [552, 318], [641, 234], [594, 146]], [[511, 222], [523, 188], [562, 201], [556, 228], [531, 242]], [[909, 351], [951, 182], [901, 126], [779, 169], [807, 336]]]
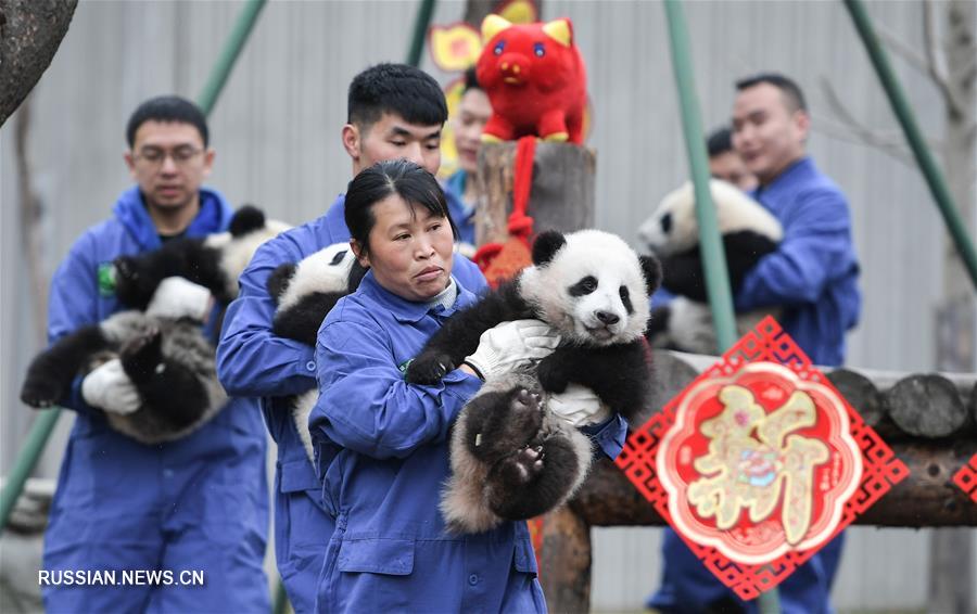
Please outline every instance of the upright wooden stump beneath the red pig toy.
[[[512, 210], [516, 142], [484, 143], [479, 149], [478, 189], [484, 205], [475, 213], [475, 242], [504, 242]], [[568, 143], [536, 143], [528, 214], [534, 231], [570, 232], [594, 227], [596, 156]]]

